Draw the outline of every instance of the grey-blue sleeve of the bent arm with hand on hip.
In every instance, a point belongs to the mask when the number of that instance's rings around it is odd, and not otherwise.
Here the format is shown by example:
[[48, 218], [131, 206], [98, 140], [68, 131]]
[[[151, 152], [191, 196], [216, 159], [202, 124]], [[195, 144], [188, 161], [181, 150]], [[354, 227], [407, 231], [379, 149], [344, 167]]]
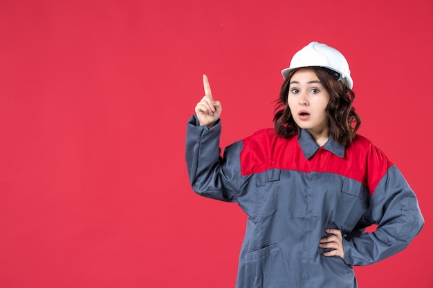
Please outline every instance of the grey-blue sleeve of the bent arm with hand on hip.
[[344, 240], [344, 261], [349, 265], [369, 265], [392, 256], [421, 231], [424, 219], [418, 200], [395, 165], [380, 178], [366, 218], [378, 227]]

